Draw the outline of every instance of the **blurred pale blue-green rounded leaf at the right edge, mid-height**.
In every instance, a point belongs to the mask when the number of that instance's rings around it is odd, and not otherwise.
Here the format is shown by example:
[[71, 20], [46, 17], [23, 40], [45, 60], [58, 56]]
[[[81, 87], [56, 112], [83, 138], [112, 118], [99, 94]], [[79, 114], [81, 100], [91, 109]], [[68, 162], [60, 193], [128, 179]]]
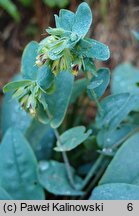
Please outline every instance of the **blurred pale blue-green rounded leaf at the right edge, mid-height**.
[[[139, 94], [139, 69], [129, 63], [117, 66], [112, 73], [111, 91], [112, 94]], [[139, 110], [139, 102], [136, 109]]]

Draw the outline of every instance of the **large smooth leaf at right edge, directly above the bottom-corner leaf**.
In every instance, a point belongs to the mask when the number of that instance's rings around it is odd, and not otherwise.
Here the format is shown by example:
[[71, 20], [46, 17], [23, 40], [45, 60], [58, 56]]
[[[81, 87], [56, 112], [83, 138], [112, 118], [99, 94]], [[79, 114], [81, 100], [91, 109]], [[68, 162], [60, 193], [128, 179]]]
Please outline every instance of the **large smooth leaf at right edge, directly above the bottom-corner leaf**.
[[[100, 184], [129, 183], [139, 184], [139, 133], [129, 138], [118, 150], [105, 171]], [[138, 183], [136, 183], [136, 181]]]

